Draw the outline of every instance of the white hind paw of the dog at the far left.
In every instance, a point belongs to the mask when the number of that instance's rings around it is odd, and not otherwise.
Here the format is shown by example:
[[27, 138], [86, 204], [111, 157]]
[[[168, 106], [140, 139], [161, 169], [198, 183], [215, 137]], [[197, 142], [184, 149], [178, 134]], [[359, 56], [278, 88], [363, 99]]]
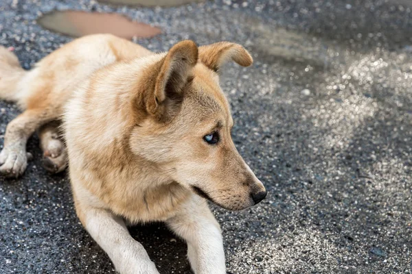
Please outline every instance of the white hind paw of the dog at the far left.
[[4, 148], [0, 153], [0, 173], [6, 177], [19, 177], [27, 167], [27, 154], [23, 150]]

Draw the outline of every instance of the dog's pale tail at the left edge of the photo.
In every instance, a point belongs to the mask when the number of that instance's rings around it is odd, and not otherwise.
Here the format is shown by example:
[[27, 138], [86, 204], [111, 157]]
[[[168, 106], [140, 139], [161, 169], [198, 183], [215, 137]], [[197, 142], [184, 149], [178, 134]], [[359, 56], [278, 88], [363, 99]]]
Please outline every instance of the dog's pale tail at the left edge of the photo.
[[10, 49], [0, 46], [0, 99], [19, 101], [19, 82], [27, 73]]

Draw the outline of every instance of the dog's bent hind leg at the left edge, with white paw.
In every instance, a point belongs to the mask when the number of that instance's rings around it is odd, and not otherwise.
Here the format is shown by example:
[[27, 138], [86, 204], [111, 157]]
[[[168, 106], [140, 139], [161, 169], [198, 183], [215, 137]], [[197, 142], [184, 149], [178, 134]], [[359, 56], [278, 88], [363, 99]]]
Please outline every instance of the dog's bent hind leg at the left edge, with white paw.
[[7, 125], [0, 153], [0, 173], [8, 177], [23, 174], [27, 166], [27, 139], [49, 119], [49, 114], [43, 109], [26, 110]]

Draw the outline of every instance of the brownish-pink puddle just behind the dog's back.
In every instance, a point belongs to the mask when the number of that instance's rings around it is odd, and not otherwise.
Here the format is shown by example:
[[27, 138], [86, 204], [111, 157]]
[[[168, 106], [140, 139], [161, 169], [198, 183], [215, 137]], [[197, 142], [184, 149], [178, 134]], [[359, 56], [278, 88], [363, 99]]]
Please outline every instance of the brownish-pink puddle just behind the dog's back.
[[52, 32], [72, 37], [88, 34], [114, 34], [131, 40], [134, 36], [147, 38], [161, 34], [158, 27], [131, 21], [126, 16], [114, 13], [90, 13], [71, 10], [52, 12], [43, 15], [37, 23]]

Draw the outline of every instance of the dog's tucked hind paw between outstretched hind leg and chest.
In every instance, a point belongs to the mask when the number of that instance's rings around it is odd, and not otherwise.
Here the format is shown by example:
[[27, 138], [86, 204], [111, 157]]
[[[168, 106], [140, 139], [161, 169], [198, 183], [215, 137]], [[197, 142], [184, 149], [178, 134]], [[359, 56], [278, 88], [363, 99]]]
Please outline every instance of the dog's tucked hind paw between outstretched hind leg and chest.
[[59, 173], [67, 166], [67, 149], [58, 130], [59, 121], [52, 121], [38, 129], [40, 147], [43, 150], [43, 166], [47, 171]]

